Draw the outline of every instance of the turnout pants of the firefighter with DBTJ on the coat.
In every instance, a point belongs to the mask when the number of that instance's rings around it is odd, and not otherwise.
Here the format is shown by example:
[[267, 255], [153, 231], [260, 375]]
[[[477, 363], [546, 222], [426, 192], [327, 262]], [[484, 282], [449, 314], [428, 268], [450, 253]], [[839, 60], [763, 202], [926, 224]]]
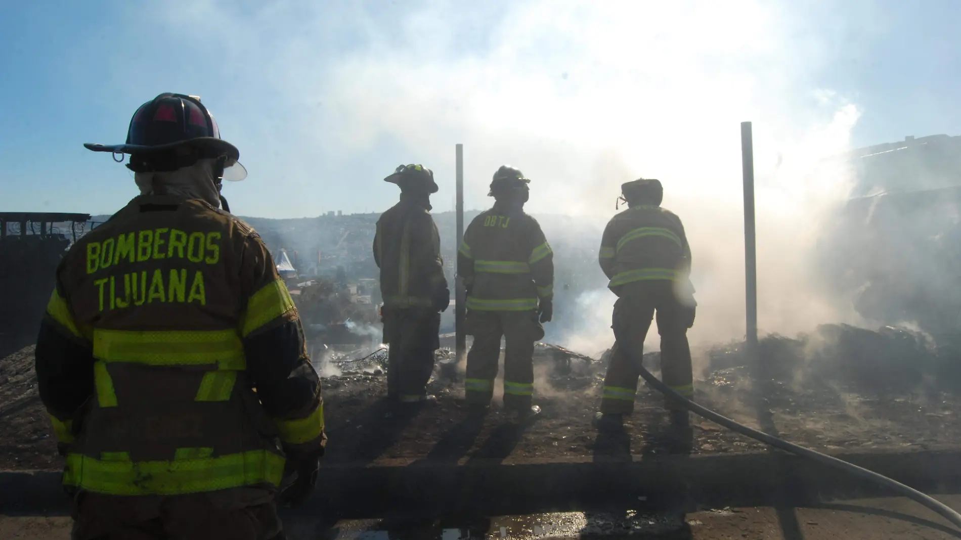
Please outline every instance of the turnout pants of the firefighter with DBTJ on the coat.
[[474, 336], [467, 354], [467, 376], [464, 387], [467, 403], [490, 404], [494, 396], [501, 337], [505, 340], [504, 406], [526, 410], [533, 401], [534, 342], [544, 337], [544, 328], [535, 311], [468, 310], [464, 320], [466, 333]]

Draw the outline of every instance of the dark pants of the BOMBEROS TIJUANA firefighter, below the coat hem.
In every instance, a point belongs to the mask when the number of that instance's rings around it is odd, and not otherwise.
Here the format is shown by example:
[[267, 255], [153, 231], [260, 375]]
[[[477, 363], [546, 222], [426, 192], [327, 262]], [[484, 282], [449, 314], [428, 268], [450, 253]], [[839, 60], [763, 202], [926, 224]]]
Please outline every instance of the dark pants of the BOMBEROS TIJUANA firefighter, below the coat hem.
[[119, 496], [79, 492], [73, 540], [283, 540], [274, 491], [255, 487], [209, 493]]

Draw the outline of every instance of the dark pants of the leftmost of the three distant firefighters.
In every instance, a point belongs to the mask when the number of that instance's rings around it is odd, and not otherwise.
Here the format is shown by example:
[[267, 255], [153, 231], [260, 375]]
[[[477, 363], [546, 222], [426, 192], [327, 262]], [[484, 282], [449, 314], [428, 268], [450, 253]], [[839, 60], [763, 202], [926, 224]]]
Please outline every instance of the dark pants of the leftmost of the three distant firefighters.
[[402, 402], [427, 395], [433, 352], [440, 348], [440, 313], [426, 307], [383, 308], [387, 353], [387, 397]]

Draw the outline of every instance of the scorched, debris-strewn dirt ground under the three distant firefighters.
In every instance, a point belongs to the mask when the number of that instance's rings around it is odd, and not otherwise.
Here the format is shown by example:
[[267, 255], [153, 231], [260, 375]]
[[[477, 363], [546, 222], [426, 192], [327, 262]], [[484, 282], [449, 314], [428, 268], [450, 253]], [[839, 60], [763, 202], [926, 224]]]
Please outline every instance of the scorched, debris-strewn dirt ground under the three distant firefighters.
[[[870, 345], [875, 337], [858, 339], [867, 339]], [[894, 338], [902, 340], [903, 336]], [[762, 342], [762, 349], [767, 348], [764, 353], [772, 358], [771, 365], [791, 367], [791, 362], [798, 360], [787, 356], [802, 345], [774, 336]], [[846, 347], [850, 349], [850, 344]], [[808, 362], [803, 370], [794, 366], [758, 374], [744, 367], [737, 347], [703, 354], [710, 357], [710, 364], [705, 376], [695, 382], [696, 401], [809, 448], [899, 451], [941, 448], [961, 440], [958, 397], [944, 384], [901, 384], [910, 374], [902, 367], [892, 368], [891, 361], [876, 369], [851, 363], [837, 369], [837, 364], [826, 363], [823, 355], [822, 363], [814, 367], [814, 362]], [[482, 422], [468, 420], [462, 401], [462, 369], [458, 370], [445, 350], [438, 352], [431, 381], [431, 392], [438, 397], [436, 405], [385, 403], [382, 356], [318, 365], [326, 375], [340, 373], [323, 380], [330, 436], [328, 463], [388, 463], [397, 458], [510, 462], [687, 452], [688, 448], [694, 454], [766, 450], [752, 439], [700, 419], [694, 421], [690, 441], [678, 438], [666, 425], [662, 398], [643, 381], [625, 433], [599, 437], [592, 419], [600, 405], [604, 361], [550, 347], [539, 346], [535, 357], [535, 403], [543, 413], [522, 429], [506, 422], [497, 394]], [[61, 468], [56, 441], [37, 397], [33, 359], [33, 347], [0, 359], [0, 469]], [[875, 356], [869, 359], [876, 360]], [[901, 361], [908, 367], [922, 365], [912, 364], [908, 356]], [[655, 375], [658, 362], [656, 353], [645, 355], [645, 365]], [[827, 370], [825, 365], [835, 367]], [[877, 384], [871, 378], [881, 368], [901, 377], [889, 375], [883, 384]]]

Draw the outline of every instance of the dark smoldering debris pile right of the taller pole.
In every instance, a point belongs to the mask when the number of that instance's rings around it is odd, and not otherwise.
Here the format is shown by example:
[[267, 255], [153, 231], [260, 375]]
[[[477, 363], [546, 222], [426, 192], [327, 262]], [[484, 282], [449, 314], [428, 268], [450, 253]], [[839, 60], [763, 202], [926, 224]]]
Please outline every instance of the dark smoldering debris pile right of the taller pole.
[[841, 384], [853, 391], [903, 394], [923, 389], [949, 390], [961, 382], [961, 336], [933, 340], [896, 327], [870, 331], [849, 325], [822, 325], [796, 338], [769, 335], [758, 344], [752, 366], [743, 343], [715, 347], [704, 376], [724, 386], [742, 368], [764, 380]]

